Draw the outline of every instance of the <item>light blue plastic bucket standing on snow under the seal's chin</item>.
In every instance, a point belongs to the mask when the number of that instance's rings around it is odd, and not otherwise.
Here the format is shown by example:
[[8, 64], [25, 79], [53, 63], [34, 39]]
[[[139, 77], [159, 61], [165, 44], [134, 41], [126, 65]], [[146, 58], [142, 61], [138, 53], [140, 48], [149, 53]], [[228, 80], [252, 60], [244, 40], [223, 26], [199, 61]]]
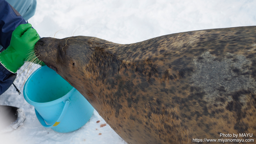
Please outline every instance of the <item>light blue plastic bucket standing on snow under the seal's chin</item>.
[[72, 132], [88, 122], [92, 105], [54, 70], [43, 66], [27, 80], [25, 100], [35, 107], [39, 122], [56, 132]]

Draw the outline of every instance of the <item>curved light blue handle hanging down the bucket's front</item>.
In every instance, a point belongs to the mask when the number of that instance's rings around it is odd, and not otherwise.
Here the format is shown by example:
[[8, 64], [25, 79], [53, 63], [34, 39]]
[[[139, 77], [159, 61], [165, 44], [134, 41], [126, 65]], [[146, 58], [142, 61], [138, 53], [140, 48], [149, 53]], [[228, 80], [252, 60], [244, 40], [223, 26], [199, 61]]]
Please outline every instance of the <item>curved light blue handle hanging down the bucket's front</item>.
[[46, 127], [46, 128], [52, 128], [52, 127], [54, 127], [54, 126], [57, 126], [58, 124], [60, 124], [61, 120], [62, 120], [63, 117], [65, 116], [65, 114], [66, 114], [66, 112], [67, 112], [67, 110], [68, 110], [68, 105], [69, 105], [69, 103], [70, 103], [69, 100], [66, 100], [66, 101], [65, 101], [65, 105], [64, 105], [64, 108], [63, 108], [63, 110], [62, 110], [62, 112], [61, 112], [61, 114], [60, 114], [60, 117], [59, 117], [58, 120], [57, 120], [54, 124], [52, 124], [52, 125], [47, 125], [47, 124], [45, 123], [45, 121], [44, 121], [44, 118], [38, 113], [38, 111], [37, 111], [36, 108], [35, 108], [36, 116], [37, 116], [39, 122], [40, 122], [44, 127]]

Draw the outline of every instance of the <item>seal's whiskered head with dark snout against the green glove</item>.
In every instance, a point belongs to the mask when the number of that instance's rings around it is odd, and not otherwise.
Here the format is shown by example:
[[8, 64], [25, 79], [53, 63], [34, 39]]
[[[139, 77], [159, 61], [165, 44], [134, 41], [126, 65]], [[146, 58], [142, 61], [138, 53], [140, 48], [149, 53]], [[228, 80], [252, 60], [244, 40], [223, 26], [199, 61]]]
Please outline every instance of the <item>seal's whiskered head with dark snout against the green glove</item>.
[[[81, 84], [78, 75], [85, 73], [85, 67], [90, 61], [93, 53], [88, 36], [75, 36], [63, 39], [43, 37], [35, 45], [35, 53], [39, 60], [55, 70], [60, 76], [67, 80], [72, 86], [90, 85]], [[79, 55], [79, 56], [78, 56]]]

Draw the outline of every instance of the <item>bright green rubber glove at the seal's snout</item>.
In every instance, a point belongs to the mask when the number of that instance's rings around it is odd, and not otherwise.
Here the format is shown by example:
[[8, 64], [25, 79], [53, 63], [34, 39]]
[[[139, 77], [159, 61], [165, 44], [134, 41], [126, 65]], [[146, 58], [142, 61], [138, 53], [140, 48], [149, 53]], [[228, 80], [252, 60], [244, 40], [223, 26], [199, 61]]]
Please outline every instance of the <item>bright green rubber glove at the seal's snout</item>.
[[[0, 53], [1, 64], [9, 71], [16, 73], [33, 52], [39, 35], [31, 24], [21, 24], [13, 32], [10, 45]], [[34, 52], [33, 52], [34, 53]], [[34, 54], [34, 57], [35, 54]], [[45, 65], [45, 64], [44, 64]]]

